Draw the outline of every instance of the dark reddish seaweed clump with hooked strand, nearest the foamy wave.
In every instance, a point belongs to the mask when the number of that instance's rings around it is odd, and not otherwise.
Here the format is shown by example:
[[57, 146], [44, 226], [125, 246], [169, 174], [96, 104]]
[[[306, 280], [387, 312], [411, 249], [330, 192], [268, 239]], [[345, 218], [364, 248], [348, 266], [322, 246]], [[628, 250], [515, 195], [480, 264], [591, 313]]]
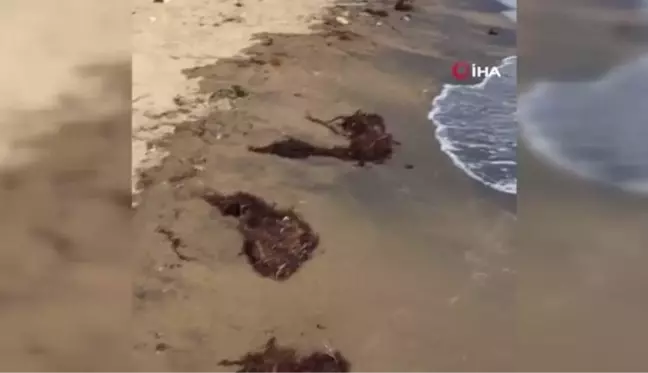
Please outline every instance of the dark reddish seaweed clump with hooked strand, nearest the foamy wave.
[[250, 151], [291, 159], [332, 157], [355, 161], [359, 166], [364, 166], [366, 163], [384, 163], [391, 158], [394, 147], [399, 144], [387, 132], [385, 121], [378, 114], [358, 110], [351, 115], [338, 116], [327, 121], [310, 115], [306, 118], [328, 128], [338, 136], [345, 137], [349, 141], [348, 145], [323, 147], [289, 137], [266, 146], [250, 147]]

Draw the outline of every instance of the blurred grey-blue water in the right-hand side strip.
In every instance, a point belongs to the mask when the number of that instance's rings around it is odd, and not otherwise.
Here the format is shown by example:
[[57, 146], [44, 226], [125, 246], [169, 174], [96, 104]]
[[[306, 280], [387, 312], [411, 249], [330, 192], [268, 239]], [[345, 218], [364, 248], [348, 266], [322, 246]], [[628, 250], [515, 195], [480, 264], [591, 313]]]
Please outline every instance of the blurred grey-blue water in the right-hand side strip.
[[[634, 6], [648, 19], [648, 1]], [[540, 159], [565, 172], [648, 194], [647, 103], [644, 54], [596, 80], [532, 86], [518, 97], [520, 138]]]

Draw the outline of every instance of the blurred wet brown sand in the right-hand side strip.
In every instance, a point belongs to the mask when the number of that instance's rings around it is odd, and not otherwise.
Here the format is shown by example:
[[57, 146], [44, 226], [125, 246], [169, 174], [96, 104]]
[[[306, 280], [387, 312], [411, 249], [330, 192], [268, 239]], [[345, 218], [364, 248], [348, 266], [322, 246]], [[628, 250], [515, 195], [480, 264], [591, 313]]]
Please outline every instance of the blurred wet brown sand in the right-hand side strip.
[[[645, 52], [645, 26], [623, 3], [525, 3], [519, 17], [522, 87], [544, 79], [590, 80]], [[549, 168], [522, 145], [520, 370], [644, 371], [648, 200]]]

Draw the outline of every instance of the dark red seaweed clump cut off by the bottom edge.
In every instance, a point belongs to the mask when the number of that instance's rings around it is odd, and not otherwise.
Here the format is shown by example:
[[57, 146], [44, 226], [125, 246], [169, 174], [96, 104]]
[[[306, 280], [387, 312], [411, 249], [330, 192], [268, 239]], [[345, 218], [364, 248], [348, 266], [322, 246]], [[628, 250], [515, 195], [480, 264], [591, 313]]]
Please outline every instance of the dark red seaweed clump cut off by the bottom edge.
[[223, 360], [222, 366], [238, 367], [236, 373], [349, 373], [350, 364], [338, 351], [300, 356], [295, 349], [278, 346], [271, 338], [260, 352], [239, 360]]

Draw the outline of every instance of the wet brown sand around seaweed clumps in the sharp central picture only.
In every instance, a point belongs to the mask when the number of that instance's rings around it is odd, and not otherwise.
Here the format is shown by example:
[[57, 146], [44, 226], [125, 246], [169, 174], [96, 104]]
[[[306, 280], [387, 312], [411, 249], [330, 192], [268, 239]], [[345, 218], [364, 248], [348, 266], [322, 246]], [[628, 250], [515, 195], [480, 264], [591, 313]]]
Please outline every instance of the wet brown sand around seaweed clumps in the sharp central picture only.
[[[339, 349], [358, 372], [513, 371], [514, 218], [437, 150], [426, 120], [453, 61], [497, 61], [513, 46], [487, 35], [490, 26], [507, 27], [499, 16], [421, 3], [410, 22], [389, 18], [398, 31], [349, 16], [334, 32], [265, 35], [246, 51], [254, 62], [185, 71], [203, 93], [239, 85], [249, 94], [177, 123], [160, 143], [170, 156], [142, 176], [138, 369], [229, 372], [221, 359], [275, 336], [298, 348]], [[357, 36], [340, 40], [340, 30]], [[492, 43], [489, 55], [483, 43]], [[337, 144], [305, 115], [356, 109], [383, 115], [403, 143], [387, 164], [246, 150], [285, 135]], [[235, 222], [199, 198], [204, 187], [294, 206], [320, 248], [287, 281], [258, 276], [239, 255]], [[194, 260], [178, 258], [156, 233], [161, 226]], [[156, 351], [160, 344], [168, 348]]]

